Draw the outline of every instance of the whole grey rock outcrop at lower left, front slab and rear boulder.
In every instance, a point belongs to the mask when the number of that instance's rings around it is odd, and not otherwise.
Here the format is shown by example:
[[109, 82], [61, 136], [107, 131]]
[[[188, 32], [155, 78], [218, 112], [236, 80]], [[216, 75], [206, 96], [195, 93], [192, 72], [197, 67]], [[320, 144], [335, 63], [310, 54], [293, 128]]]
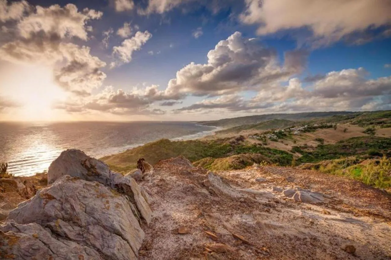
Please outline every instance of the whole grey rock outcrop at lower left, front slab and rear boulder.
[[51, 164], [48, 180], [0, 227], [0, 258], [138, 258], [152, 212], [133, 178], [67, 150]]

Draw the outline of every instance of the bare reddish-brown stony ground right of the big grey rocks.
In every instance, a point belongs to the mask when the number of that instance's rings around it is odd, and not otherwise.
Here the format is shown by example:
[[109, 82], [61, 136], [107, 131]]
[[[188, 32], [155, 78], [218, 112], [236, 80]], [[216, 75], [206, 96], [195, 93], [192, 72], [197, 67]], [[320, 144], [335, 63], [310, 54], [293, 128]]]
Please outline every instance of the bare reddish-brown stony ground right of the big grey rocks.
[[139, 184], [154, 212], [142, 260], [391, 257], [390, 195], [354, 180], [273, 166], [211, 173], [173, 158]]

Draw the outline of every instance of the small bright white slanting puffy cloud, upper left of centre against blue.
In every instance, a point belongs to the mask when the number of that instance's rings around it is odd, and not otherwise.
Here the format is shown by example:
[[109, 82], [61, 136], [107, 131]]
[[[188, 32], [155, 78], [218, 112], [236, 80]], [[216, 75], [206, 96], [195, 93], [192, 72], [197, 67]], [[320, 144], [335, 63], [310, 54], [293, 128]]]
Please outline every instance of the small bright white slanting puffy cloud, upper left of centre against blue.
[[124, 63], [129, 63], [132, 60], [132, 54], [136, 50], [140, 50], [141, 46], [144, 45], [149, 39], [151, 39], [152, 34], [148, 31], [145, 32], [136, 32], [135, 36], [130, 39], [126, 39], [122, 42], [121, 46], [113, 47], [113, 56], [116, 57], [116, 61], [110, 64], [111, 68], [120, 66]]

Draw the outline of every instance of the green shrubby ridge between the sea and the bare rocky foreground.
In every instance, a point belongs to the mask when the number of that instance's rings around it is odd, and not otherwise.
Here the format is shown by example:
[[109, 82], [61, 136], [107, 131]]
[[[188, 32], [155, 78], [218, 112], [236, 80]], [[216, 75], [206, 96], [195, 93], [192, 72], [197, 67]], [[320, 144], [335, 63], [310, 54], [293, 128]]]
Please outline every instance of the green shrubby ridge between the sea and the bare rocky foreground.
[[[234, 139], [233, 139], [234, 140]], [[151, 164], [159, 160], [183, 155], [195, 162], [202, 158], [223, 158], [239, 154], [259, 154], [273, 164], [291, 165], [292, 155], [285, 151], [263, 147], [258, 144], [244, 144], [230, 139], [214, 141], [170, 141], [161, 139], [143, 146], [127, 150], [123, 153], [102, 158], [111, 169], [124, 173], [136, 167], [138, 158], [145, 158]]]

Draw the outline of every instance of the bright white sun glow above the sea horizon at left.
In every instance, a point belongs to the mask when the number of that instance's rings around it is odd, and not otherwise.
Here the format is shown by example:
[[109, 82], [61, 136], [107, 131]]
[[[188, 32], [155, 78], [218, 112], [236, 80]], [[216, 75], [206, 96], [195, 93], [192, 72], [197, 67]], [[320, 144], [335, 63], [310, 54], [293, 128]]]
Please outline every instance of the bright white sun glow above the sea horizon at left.
[[13, 80], [16, 100], [20, 103], [19, 116], [26, 121], [56, 120], [58, 111], [53, 109], [55, 102], [65, 99], [65, 92], [55, 84], [50, 68], [28, 66], [18, 71], [19, 78]]

